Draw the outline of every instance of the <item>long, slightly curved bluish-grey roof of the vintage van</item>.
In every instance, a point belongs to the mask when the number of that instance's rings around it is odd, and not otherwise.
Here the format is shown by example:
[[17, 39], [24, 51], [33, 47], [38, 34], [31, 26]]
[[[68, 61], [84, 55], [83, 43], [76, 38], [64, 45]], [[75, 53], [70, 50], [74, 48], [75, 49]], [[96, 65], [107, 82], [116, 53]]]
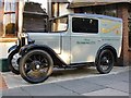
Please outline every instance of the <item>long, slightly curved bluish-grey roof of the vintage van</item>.
[[[71, 13], [66, 15], [72, 15], [72, 16], [90, 16], [90, 17], [97, 17], [97, 19], [105, 19], [105, 20], [111, 20], [111, 21], [119, 21], [122, 22], [122, 19], [114, 17], [114, 16], [107, 16], [107, 15], [100, 15], [100, 14], [90, 14], [90, 13]], [[63, 15], [64, 16], [64, 15]], [[61, 17], [61, 16], [60, 16]]]

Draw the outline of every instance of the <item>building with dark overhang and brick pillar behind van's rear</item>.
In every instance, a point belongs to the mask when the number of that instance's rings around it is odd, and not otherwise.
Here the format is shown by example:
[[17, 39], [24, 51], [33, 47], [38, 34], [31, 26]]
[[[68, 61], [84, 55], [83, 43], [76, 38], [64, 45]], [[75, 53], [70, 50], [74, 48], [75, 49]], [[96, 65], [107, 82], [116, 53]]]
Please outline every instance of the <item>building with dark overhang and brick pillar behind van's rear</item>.
[[[52, 0], [51, 7], [49, 7], [53, 9], [53, 11], [51, 11], [51, 16], [56, 16], [53, 13], [55, 3], [61, 4], [61, 2], [53, 2]], [[118, 60], [118, 65], [131, 65], [131, 0], [114, 0], [107, 2], [106, 0], [72, 0], [70, 2], [68, 1], [67, 3], [68, 7], [64, 9], [69, 11], [71, 10], [74, 13], [104, 14], [122, 19], [122, 52], [121, 58]], [[58, 13], [61, 12], [58, 11]]]

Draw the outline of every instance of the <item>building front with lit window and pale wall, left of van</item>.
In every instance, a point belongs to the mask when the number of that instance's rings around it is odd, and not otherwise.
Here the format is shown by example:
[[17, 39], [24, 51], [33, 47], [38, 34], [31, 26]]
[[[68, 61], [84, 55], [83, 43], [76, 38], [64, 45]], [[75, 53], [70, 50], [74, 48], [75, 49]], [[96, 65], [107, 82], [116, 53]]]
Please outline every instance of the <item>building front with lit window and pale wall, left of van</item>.
[[19, 33], [45, 33], [47, 19], [39, 2], [0, 0], [0, 70], [8, 71], [8, 49], [15, 44]]

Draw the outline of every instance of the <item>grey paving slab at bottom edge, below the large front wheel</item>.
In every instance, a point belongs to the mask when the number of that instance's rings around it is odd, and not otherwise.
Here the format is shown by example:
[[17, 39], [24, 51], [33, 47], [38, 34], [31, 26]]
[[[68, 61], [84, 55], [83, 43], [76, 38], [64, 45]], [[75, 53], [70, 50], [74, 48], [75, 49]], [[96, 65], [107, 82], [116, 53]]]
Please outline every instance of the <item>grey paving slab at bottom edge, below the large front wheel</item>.
[[78, 95], [56, 84], [28, 86], [28, 87], [22, 87], [22, 89], [27, 94], [29, 94], [31, 96], [59, 96], [59, 95], [73, 95], [73, 94]]

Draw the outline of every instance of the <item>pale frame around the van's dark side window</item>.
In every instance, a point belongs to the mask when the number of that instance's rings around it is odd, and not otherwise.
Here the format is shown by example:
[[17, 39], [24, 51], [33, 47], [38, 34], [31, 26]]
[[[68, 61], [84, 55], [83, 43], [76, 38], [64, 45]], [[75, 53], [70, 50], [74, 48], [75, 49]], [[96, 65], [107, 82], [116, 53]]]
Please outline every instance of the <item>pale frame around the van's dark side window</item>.
[[74, 19], [74, 17], [72, 17], [72, 22], [71, 22], [71, 24], [72, 24], [71, 32], [72, 32], [73, 34], [91, 34], [91, 35], [96, 35], [96, 34], [99, 33], [99, 20], [98, 20], [98, 19], [95, 19], [95, 17], [84, 17], [84, 16], [75, 16], [75, 17], [78, 17], [78, 19], [91, 19], [91, 20], [96, 20], [96, 21], [98, 22], [98, 24], [97, 24], [97, 33], [95, 33], [95, 32], [92, 32], [92, 33], [84, 33], [84, 32], [75, 33], [75, 32], [73, 32], [73, 19]]

